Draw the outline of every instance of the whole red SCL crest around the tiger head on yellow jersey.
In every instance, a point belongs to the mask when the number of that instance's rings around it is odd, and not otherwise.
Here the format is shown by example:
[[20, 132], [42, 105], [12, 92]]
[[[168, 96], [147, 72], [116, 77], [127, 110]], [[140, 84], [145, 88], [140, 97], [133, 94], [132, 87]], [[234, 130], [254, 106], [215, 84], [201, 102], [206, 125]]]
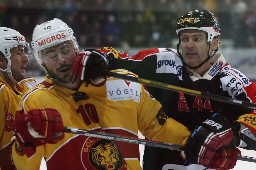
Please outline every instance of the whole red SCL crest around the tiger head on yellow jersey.
[[84, 142], [81, 160], [85, 169], [123, 170], [128, 169], [112, 140], [89, 137]]

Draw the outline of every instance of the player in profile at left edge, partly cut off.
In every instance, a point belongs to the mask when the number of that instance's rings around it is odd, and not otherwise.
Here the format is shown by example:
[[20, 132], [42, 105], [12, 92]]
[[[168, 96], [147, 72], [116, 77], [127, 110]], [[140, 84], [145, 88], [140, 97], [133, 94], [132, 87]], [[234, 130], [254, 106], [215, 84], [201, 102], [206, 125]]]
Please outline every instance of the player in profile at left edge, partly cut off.
[[14, 169], [11, 158], [11, 138], [15, 129], [17, 105], [25, 91], [36, 85], [25, 78], [25, 67], [32, 57], [29, 44], [18, 31], [0, 27], [0, 169]]

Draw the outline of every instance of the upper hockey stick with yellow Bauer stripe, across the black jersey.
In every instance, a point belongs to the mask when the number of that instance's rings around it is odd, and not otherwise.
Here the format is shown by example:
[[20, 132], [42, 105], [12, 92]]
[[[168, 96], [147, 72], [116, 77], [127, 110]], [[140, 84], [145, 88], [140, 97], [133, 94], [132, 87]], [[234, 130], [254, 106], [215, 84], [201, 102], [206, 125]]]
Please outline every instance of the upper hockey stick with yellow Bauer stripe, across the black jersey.
[[128, 75], [124, 75], [124, 74], [118, 74], [118, 73], [114, 73], [111, 71], [103, 71], [102, 73], [105, 76], [115, 77], [117, 79], [128, 80], [131, 82], [141, 83], [141, 84], [145, 84], [145, 85], [152, 86], [152, 87], [182, 92], [182, 93], [193, 95], [193, 96], [201, 96], [201, 97], [212, 99], [212, 100], [217, 100], [217, 101], [221, 101], [221, 102], [225, 102], [225, 103], [229, 103], [229, 104], [235, 104], [238, 106], [247, 107], [247, 108], [251, 108], [251, 109], [256, 109], [256, 104], [250, 103], [248, 101], [232, 99], [232, 98], [225, 97], [225, 96], [219, 96], [219, 95], [215, 95], [215, 94], [206, 93], [203, 91], [196, 91], [196, 90], [192, 90], [192, 89], [188, 89], [188, 88], [173, 86], [173, 85], [169, 85], [169, 84], [165, 84], [165, 83], [161, 83], [161, 82], [157, 82], [157, 81], [153, 81], [153, 80], [141, 79], [141, 78], [128, 76]]

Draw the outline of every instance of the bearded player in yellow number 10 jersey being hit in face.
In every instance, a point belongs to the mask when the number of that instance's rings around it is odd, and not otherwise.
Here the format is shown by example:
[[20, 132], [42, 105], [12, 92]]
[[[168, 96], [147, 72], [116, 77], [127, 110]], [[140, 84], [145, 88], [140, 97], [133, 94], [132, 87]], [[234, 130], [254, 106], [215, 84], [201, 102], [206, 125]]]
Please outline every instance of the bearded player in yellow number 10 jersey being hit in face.
[[[138, 145], [63, 134], [63, 126], [131, 137], [140, 130], [151, 140], [185, 145], [190, 135], [187, 128], [168, 118], [145, 86], [100, 74], [79, 74], [81, 70], [100, 73], [110, 67], [111, 59], [97, 50], [79, 52], [72, 29], [63, 21], [37, 25], [32, 47], [47, 77], [24, 94], [16, 112], [11, 155], [17, 169], [34, 169], [42, 156], [48, 170], [141, 169]], [[95, 65], [85, 67], [92, 55]], [[136, 76], [128, 70], [112, 71]], [[214, 145], [221, 147], [223, 139], [215, 138], [220, 143], [214, 141]], [[208, 153], [207, 148], [204, 151]]]

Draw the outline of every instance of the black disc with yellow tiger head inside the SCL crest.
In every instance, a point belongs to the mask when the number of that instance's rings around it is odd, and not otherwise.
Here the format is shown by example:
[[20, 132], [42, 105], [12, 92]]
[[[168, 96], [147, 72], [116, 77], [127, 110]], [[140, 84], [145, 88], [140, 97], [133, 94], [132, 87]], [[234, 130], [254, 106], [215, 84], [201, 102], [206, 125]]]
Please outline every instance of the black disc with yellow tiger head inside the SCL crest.
[[98, 140], [89, 153], [90, 163], [96, 169], [118, 170], [123, 165], [122, 155], [111, 140]]

